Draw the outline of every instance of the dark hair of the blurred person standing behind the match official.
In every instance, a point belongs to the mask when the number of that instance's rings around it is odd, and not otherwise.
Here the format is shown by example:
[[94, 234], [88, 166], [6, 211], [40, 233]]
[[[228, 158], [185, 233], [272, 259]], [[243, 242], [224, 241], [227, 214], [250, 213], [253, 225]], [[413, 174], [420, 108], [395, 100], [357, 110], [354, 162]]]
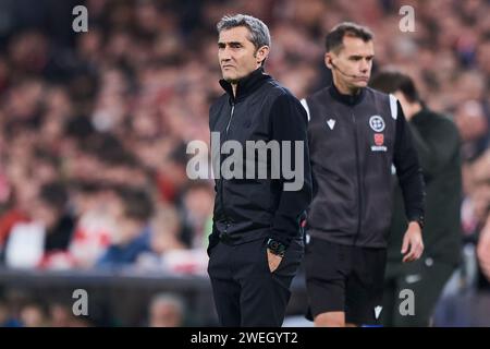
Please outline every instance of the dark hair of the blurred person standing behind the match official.
[[384, 70], [376, 74], [370, 86], [385, 94], [400, 91], [409, 103], [420, 101], [417, 88], [411, 76], [395, 70]]

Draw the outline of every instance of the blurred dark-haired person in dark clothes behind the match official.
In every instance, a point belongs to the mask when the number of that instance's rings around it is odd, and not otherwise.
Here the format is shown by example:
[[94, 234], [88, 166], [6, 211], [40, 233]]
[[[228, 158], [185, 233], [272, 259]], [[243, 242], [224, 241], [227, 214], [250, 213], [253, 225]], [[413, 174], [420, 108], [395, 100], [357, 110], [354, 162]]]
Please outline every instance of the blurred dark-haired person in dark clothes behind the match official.
[[[426, 182], [424, 258], [403, 264], [399, 245], [406, 229], [402, 192], [395, 186], [394, 213], [388, 242], [383, 325], [428, 326], [441, 291], [461, 260], [462, 178], [460, 134], [448, 118], [426, 107], [412, 79], [396, 71], [373, 77], [371, 87], [392, 93], [400, 100], [413, 134]], [[400, 313], [400, 292], [414, 292], [414, 314]]]

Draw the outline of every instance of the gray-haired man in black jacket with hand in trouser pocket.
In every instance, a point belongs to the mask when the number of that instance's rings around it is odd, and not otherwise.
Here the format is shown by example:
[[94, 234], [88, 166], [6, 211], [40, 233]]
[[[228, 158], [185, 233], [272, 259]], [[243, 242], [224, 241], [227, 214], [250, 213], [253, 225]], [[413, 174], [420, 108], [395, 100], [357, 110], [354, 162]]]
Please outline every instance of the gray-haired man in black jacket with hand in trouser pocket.
[[216, 201], [208, 273], [215, 303], [223, 326], [281, 326], [311, 198], [306, 112], [264, 73], [270, 35], [261, 21], [237, 14], [217, 27], [225, 94], [209, 112]]

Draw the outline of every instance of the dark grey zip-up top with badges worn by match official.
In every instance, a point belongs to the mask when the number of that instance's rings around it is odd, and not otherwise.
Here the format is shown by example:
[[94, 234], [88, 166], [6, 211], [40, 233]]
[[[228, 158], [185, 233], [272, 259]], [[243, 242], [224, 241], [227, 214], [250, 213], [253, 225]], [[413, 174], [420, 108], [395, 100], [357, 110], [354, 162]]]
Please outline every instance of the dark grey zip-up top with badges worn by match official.
[[392, 165], [406, 218], [424, 220], [424, 179], [400, 103], [369, 87], [342, 95], [332, 84], [306, 99], [314, 200], [308, 232], [334, 243], [387, 248]]

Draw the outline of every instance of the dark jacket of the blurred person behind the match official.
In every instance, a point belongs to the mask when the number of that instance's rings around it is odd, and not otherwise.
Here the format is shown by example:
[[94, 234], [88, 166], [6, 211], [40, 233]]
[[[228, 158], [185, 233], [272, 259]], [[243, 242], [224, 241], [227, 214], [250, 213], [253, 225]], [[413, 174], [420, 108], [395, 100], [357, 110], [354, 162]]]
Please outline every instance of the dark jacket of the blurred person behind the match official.
[[[424, 254], [452, 265], [461, 262], [462, 173], [460, 133], [444, 116], [422, 108], [407, 123], [426, 182]], [[403, 195], [395, 185], [388, 261], [402, 263], [400, 246], [406, 229]]]

